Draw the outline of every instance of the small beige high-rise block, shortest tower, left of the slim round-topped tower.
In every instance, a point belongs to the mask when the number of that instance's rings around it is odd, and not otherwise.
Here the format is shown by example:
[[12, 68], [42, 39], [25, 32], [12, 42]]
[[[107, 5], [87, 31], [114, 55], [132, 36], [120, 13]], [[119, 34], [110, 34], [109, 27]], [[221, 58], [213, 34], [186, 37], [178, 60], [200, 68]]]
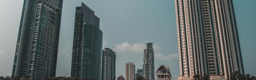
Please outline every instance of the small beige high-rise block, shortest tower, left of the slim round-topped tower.
[[125, 63], [125, 80], [135, 79], [135, 65], [132, 62]]

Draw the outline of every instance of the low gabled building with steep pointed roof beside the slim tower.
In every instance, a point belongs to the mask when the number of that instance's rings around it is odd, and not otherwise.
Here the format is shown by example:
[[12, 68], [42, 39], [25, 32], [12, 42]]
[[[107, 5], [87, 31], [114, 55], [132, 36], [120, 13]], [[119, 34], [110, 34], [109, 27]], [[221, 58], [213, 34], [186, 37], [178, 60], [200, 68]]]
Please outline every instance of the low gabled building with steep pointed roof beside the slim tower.
[[156, 70], [156, 76], [157, 76], [156, 80], [172, 80], [169, 67], [166, 67], [164, 65], [161, 65]]

